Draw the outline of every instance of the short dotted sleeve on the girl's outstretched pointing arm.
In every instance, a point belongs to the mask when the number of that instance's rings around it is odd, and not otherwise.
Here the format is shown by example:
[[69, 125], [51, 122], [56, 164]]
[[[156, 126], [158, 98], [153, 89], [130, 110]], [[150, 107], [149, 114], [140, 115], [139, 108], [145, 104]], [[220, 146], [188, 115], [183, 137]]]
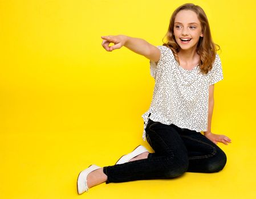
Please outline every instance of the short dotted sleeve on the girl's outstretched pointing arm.
[[159, 71], [159, 69], [164, 66], [164, 60], [165, 60], [165, 57], [166, 57], [166, 55], [168, 53], [168, 49], [169, 49], [168, 47], [165, 47], [164, 45], [157, 45], [157, 48], [160, 49], [159, 61], [157, 62], [157, 64], [155, 61], [151, 61], [151, 60], [149, 61], [150, 73], [151, 73], [151, 76], [154, 78], [156, 77], [156, 73]]

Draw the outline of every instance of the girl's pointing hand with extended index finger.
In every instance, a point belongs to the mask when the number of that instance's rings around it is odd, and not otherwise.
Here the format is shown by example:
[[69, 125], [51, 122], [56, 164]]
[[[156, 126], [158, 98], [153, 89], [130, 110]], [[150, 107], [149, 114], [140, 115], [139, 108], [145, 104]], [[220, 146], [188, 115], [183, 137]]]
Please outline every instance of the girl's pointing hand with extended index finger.
[[[103, 39], [103, 42], [101, 43], [101, 45], [103, 46], [103, 48], [106, 49], [106, 51], [113, 51], [113, 49], [119, 49], [127, 41], [127, 36], [125, 35], [116, 35], [116, 36], [109, 35], [109, 36], [101, 36], [101, 38]], [[112, 45], [111, 47], [109, 47], [108, 45], [110, 43], [114, 43], [115, 45]]]

